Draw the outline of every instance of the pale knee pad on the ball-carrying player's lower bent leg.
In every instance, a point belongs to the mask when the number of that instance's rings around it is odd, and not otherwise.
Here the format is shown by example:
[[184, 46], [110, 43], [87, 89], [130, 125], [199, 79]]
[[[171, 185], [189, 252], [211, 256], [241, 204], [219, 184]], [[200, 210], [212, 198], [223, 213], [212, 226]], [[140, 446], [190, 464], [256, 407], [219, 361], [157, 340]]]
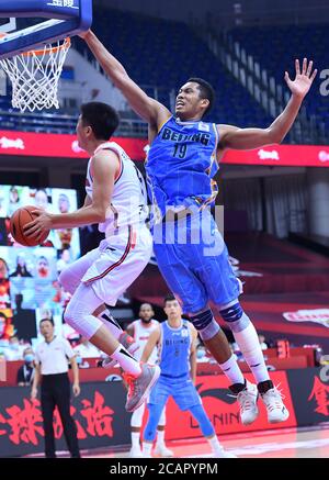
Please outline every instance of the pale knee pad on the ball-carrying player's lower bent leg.
[[103, 325], [100, 319], [91, 314], [90, 305], [81, 300], [75, 299], [75, 297], [72, 297], [66, 308], [64, 320], [88, 339]]

